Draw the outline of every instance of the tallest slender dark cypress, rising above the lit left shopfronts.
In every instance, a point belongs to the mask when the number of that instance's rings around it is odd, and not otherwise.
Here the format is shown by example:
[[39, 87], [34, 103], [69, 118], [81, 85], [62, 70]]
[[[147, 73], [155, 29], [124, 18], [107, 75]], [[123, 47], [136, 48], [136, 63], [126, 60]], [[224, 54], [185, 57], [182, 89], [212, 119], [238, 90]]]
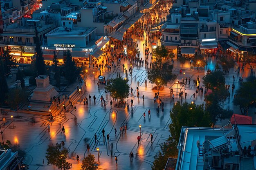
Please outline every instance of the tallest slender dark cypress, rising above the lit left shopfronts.
[[36, 30], [36, 37], [35, 37], [35, 43], [36, 43], [36, 76], [38, 75], [44, 75], [45, 73], [45, 59], [43, 58], [40, 40], [38, 38], [38, 31]]

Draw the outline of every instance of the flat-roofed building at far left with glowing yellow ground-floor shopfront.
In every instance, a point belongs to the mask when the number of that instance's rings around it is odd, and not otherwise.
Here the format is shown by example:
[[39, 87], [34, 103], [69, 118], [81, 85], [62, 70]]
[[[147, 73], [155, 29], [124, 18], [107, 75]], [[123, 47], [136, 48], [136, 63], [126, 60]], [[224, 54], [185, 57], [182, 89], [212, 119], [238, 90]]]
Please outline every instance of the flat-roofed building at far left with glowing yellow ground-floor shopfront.
[[[3, 33], [0, 34], [1, 51], [8, 45], [18, 63], [29, 64], [35, 54], [35, 27], [38, 30], [40, 43], [44, 44], [45, 34], [55, 26], [49, 20], [20, 18], [17, 22], [4, 27]], [[24, 47], [24, 53], [21, 53], [20, 46]]]

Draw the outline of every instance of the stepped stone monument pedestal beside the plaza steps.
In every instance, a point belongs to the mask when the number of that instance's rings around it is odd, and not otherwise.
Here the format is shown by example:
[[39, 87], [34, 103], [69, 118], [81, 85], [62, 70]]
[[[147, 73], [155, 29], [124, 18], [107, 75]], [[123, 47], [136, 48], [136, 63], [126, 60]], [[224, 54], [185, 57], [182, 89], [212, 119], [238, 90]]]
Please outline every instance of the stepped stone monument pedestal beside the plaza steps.
[[48, 75], [39, 75], [36, 79], [36, 88], [31, 100], [50, 102], [51, 97], [58, 96], [54, 86], [49, 83]]

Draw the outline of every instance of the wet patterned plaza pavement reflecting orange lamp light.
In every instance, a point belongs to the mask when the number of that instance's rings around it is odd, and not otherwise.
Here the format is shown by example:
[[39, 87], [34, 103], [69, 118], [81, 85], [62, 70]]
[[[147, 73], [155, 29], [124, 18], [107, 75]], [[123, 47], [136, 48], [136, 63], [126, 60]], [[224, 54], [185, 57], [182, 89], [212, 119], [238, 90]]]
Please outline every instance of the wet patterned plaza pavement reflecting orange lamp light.
[[[141, 51], [141, 57], [145, 60], [143, 55], [142, 42], [138, 40], [139, 49]], [[150, 62], [150, 61], [149, 61]], [[208, 68], [214, 70], [216, 64], [216, 58], [208, 58]], [[117, 63], [116, 63], [117, 64]], [[121, 65], [111, 72], [103, 70], [102, 75], [107, 78], [115, 78], [117, 74], [120, 73], [121, 77], [126, 77], [124, 73], [122, 64], [125, 64], [125, 68], [129, 69], [128, 61], [121, 60]], [[188, 68], [188, 69], [187, 69]], [[20, 144], [20, 147], [25, 150], [27, 156], [25, 157], [25, 163], [29, 164], [31, 170], [50, 170], [57, 169], [51, 165], [47, 165], [47, 160], [45, 158], [45, 153], [48, 145], [65, 142], [65, 147], [68, 148], [69, 158], [68, 162], [72, 163], [72, 169], [80, 170], [81, 163], [76, 163], [76, 155], [79, 155], [80, 160], [88, 154], [93, 154], [95, 160], [98, 160], [97, 150], [99, 147], [100, 153], [100, 164], [99, 169], [102, 170], [149, 170], [153, 165], [154, 155], [160, 150], [159, 144], [163, 143], [168, 139], [170, 133], [168, 132], [168, 124], [171, 123], [169, 116], [170, 109], [173, 108], [173, 102], [170, 98], [170, 89], [175, 82], [169, 82], [164, 89], [159, 92], [162, 101], [164, 102], [164, 114], [160, 111], [159, 114], [156, 113], [156, 108], [159, 104], [153, 102], [153, 97], [155, 92], [152, 88], [155, 84], [150, 84], [148, 82], [147, 87], [145, 80], [147, 77], [148, 68], [144, 65], [133, 64], [132, 75], [127, 75], [129, 79], [130, 87], [134, 89], [139, 87], [140, 96], [139, 98], [135, 95], [129, 96], [127, 99], [129, 104], [129, 110], [127, 108], [111, 108], [109, 93], [106, 96], [104, 92], [104, 85], [97, 86], [97, 75], [96, 72], [94, 82], [93, 71], [96, 68], [90, 68], [87, 73], [87, 87], [86, 92], [82, 97], [88, 97], [91, 95], [96, 96], [97, 100], [94, 103], [89, 101], [88, 108], [83, 105], [83, 102], [78, 101], [75, 105], [77, 110], [68, 110], [65, 115], [62, 113], [55, 118], [53, 123], [47, 121], [47, 117], [40, 115], [29, 115], [20, 114], [22, 117], [19, 119], [14, 119], [14, 128], [9, 126], [9, 128], [4, 129], [3, 138], [4, 141], [10, 140], [12, 143]], [[179, 75], [180, 63], [177, 60], [174, 61], [173, 72], [178, 74], [178, 80], [181, 81], [184, 77], [191, 77], [191, 82], [196, 79], [199, 75], [202, 79], [205, 71], [197, 71], [194, 69], [190, 70], [189, 60], [184, 64], [185, 74]], [[235, 90], [239, 87], [238, 77], [247, 77], [249, 75], [249, 69], [245, 69], [244, 72], [240, 72], [239, 75], [236, 69], [231, 69], [229, 75], [225, 75], [226, 84], [232, 85], [233, 75], [235, 75]], [[180, 84], [178, 85], [180, 88]], [[182, 102], [191, 102], [193, 100], [193, 93], [195, 93], [196, 86], [191, 83], [190, 86], [186, 86], [186, 92], [188, 93], [187, 99], [183, 99]], [[174, 86], [175, 101], [179, 99], [176, 95], [176, 85]], [[182, 89], [185, 91], [185, 89]], [[179, 91], [178, 91], [179, 93]], [[240, 114], [238, 107], [232, 105], [234, 98], [234, 92], [231, 92], [230, 100], [227, 100], [225, 107], [227, 109], [234, 110], [234, 113]], [[103, 107], [100, 97], [103, 95], [106, 100], [106, 108]], [[144, 101], [142, 100], [142, 95], [145, 96]], [[130, 99], [134, 100], [134, 106], [130, 106]], [[195, 104], [202, 104], [204, 102], [204, 96], [202, 94], [198, 95], [195, 99]], [[115, 104], [115, 102], [114, 102]], [[148, 110], [151, 110], [151, 117], [148, 117]], [[143, 117], [143, 113], [146, 113], [146, 119]], [[16, 113], [12, 113], [16, 115]], [[11, 113], [9, 113], [11, 115]], [[8, 116], [9, 116], [8, 115]], [[254, 110], [249, 110], [249, 115], [253, 117], [253, 123], [255, 123]], [[2, 116], [2, 115], [1, 115]], [[2, 117], [0, 117], [2, 119]], [[36, 119], [36, 124], [31, 123], [31, 119]], [[77, 121], [75, 121], [76, 119]], [[10, 122], [11, 119], [7, 118]], [[216, 126], [225, 125], [228, 121], [218, 122]], [[8, 122], [7, 122], [8, 124]], [[47, 130], [47, 124], [51, 125], [50, 133]], [[137, 142], [137, 136], [139, 135], [139, 124], [141, 124], [141, 144]], [[127, 125], [127, 132], [124, 135], [119, 135], [119, 127]], [[61, 127], [65, 127], [66, 135], [61, 133]], [[102, 129], [105, 130], [105, 137], [103, 137]], [[117, 136], [115, 136], [114, 128], [117, 129]], [[106, 135], [109, 133], [110, 141], [107, 143]], [[153, 143], [150, 141], [150, 133], [153, 134]], [[98, 141], [95, 142], [94, 134], [97, 135]], [[90, 145], [90, 151], [86, 149], [86, 145]], [[111, 146], [112, 157], [111, 157]], [[130, 162], [129, 154], [134, 153], [133, 163]], [[115, 164], [115, 156], [118, 158], [118, 166]], [[43, 164], [44, 161], [44, 164]]]

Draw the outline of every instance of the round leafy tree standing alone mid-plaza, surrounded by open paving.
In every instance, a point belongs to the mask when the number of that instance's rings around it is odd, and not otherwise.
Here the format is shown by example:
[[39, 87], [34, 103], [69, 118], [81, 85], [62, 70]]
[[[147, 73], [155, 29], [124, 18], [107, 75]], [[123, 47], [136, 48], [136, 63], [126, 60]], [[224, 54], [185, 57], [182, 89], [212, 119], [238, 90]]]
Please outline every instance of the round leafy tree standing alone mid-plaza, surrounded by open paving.
[[122, 77], [117, 77], [115, 79], [110, 79], [105, 86], [105, 89], [111, 93], [111, 96], [116, 99], [123, 101], [129, 96], [128, 79], [123, 79]]

